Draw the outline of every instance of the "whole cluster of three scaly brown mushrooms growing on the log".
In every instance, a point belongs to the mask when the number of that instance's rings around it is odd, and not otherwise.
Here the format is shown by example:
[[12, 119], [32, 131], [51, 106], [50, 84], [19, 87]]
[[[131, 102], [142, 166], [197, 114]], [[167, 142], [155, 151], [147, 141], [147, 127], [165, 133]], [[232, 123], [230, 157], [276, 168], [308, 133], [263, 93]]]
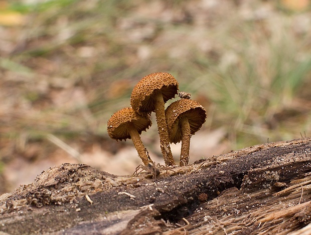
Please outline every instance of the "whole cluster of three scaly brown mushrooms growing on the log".
[[[206, 111], [202, 105], [190, 99], [189, 93], [178, 93], [178, 90], [178, 82], [169, 73], [152, 73], [143, 77], [133, 88], [131, 107], [119, 110], [108, 120], [109, 136], [115, 140], [132, 139], [144, 165], [152, 163], [139, 135], [151, 126], [150, 115], [154, 112], [165, 164], [175, 164], [170, 143], [182, 141], [180, 165], [187, 165], [190, 137], [205, 122]], [[177, 94], [181, 100], [165, 109], [165, 103]]]

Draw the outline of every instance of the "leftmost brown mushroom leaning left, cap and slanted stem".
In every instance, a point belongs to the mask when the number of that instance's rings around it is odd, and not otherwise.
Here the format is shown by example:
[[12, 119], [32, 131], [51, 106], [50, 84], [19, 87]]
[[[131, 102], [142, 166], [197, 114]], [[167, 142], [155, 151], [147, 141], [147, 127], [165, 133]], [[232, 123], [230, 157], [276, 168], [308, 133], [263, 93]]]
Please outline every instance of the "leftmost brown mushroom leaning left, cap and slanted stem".
[[141, 116], [132, 108], [124, 108], [114, 113], [107, 123], [107, 131], [110, 138], [115, 140], [132, 139], [138, 156], [144, 165], [152, 163], [146, 153], [146, 149], [140, 139], [140, 134], [151, 126], [149, 116]]

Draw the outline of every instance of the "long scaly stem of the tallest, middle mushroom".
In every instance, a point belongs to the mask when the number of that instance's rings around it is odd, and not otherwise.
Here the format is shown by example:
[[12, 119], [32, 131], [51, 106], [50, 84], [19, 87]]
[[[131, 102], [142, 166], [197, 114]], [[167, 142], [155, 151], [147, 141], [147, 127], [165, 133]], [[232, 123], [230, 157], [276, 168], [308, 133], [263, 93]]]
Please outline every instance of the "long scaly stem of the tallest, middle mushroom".
[[154, 92], [154, 112], [156, 113], [158, 131], [160, 136], [160, 147], [163, 154], [165, 164], [167, 166], [174, 165], [174, 158], [170, 147], [170, 139], [168, 126], [165, 118], [165, 103], [161, 91]]

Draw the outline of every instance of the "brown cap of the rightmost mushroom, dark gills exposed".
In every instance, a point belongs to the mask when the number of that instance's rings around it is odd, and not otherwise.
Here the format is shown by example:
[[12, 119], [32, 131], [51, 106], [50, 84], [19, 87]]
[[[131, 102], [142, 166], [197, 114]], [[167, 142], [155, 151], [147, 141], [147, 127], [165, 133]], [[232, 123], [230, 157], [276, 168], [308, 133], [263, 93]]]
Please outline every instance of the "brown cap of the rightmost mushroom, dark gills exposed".
[[206, 119], [206, 111], [197, 101], [181, 99], [173, 102], [165, 111], [168, 131], [171, 143], [182, 140], [181, 126], [179, 120], [187, 117], [190, 125], [190, 133], [194, 135]]

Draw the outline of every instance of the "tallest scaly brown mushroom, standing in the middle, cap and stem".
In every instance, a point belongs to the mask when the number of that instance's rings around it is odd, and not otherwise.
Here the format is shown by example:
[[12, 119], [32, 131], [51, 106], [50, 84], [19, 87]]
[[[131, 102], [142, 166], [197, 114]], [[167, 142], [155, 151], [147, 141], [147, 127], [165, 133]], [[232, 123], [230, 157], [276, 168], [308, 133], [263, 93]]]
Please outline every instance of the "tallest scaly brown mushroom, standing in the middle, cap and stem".
[[174, 165], [168, 127], [165, 119], [165, 103], [175, 97], [178, 82], [169, 73], [153, 73], [143, 77], [134, 87], [130, 104], [137, 113], [156, 113], [160, 147], [167, 166]]

